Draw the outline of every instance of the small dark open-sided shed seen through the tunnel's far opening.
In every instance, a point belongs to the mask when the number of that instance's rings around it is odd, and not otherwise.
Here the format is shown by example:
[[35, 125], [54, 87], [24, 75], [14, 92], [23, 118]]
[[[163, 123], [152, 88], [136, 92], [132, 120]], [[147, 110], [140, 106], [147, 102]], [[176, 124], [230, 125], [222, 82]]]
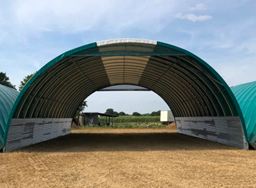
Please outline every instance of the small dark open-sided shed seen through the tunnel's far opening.
[[[105, 122], [99, 122], [99, 116], [105, 116], [106, 121]], [[104, 125], [113, 125], [114, 120], [113, 118], [118, 117], [118, 115], [114, 114], [103, 114], [100, 112], [85, 112], [81, 113], [79, 118], [79, 123], [82, 126], [104, 126]], [[107, 120], [109, 119], [109, 120]]]

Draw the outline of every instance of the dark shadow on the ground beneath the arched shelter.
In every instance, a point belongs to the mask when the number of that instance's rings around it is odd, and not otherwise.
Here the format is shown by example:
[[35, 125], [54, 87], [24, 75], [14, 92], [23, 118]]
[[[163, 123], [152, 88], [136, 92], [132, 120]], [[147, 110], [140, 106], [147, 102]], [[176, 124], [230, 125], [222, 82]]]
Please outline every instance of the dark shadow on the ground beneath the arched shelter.
[[[96, 152], [96, 151], [204, 151], [237, 150], [213, 141], [176, 132], [125, 134], [69, 134], [31, 145], [20, 152]], [[17, 152], [17, 151], [14, 151]]]

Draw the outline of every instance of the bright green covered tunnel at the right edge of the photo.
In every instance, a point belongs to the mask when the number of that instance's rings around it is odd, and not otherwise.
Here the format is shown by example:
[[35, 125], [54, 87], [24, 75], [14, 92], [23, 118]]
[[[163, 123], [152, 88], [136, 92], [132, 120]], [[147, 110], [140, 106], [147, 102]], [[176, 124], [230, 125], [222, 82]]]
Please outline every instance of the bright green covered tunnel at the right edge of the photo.
[[246, 123], [248, 141], [256, 148], [256, 81], [231, 87]]

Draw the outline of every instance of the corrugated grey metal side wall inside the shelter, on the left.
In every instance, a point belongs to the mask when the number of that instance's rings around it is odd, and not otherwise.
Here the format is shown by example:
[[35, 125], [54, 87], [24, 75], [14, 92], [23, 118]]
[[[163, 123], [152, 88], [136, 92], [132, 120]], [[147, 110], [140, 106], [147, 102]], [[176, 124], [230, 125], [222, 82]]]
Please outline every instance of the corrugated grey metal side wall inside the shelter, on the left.
[[70, 134], [72, 118], [12, 118], [5, 152]]

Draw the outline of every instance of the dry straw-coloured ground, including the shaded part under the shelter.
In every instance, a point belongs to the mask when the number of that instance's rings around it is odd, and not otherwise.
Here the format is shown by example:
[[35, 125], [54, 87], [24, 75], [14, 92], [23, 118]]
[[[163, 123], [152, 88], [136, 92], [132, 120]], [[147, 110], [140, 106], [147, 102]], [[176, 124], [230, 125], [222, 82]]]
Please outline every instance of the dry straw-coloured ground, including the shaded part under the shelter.
[[0, 154], [0, 187], [256, 187], [256, 151], [173, 129], [78, 129]]

